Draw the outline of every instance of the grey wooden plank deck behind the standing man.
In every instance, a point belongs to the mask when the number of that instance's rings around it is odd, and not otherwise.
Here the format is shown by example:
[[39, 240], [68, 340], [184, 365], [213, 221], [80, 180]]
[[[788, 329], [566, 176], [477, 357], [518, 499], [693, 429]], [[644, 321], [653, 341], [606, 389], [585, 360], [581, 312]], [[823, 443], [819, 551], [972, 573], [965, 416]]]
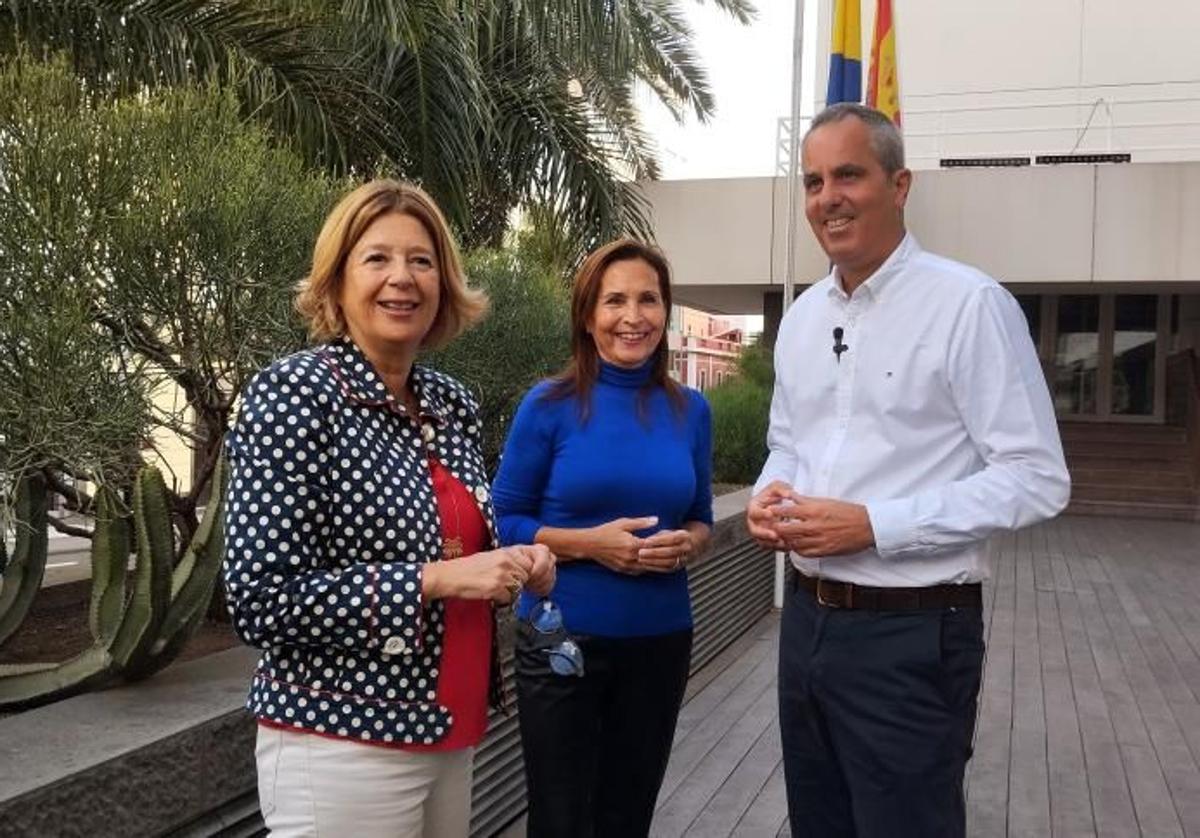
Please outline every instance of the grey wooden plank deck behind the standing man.
[[[1200, 525], [996, 540], [968, 834], [1200, 836]], [[689, 684], [654, 836], [786, 836], [778, 617]]]

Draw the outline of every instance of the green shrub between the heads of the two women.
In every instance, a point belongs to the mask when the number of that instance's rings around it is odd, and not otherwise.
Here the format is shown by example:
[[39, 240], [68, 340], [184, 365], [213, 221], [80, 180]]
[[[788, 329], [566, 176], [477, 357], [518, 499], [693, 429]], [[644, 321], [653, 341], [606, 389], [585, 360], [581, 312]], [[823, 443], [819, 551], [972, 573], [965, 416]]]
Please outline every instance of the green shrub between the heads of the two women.
[[472, 286], [487, 292], [487, 318], [425, 359], [479, 400], [484, 457], [494, 472], [521, 396], [563, 367], [570, 354], [568, 291], [552, 270], [510, 252], [467, 257]]

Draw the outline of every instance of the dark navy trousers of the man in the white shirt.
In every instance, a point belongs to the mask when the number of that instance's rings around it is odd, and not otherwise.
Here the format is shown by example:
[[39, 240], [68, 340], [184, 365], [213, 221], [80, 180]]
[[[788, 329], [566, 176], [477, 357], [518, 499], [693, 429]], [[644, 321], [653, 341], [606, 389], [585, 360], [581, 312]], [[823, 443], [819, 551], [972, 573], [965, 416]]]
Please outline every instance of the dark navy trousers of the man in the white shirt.
[[979, 609], [856, 611], [792, 589], [779, 722], [794, 838], [961, 838]]

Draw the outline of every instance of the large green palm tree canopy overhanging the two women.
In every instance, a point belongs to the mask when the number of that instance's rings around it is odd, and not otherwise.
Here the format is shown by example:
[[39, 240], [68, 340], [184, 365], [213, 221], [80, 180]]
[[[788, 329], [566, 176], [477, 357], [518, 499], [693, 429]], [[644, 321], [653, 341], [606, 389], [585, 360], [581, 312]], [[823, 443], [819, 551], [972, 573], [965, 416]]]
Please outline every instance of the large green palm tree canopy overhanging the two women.
[[[703, 0], [694, 0], [702, 2]], [[750, 0], [713, 0], [740, 22]], [[424, 184], [468, 244], [540, 205], [580, 252], [649, 233], [636, 89], [713, 113], [679, 0], [8, 0], [0, 55], [98, 90], [209, 82], [316, 164]]]

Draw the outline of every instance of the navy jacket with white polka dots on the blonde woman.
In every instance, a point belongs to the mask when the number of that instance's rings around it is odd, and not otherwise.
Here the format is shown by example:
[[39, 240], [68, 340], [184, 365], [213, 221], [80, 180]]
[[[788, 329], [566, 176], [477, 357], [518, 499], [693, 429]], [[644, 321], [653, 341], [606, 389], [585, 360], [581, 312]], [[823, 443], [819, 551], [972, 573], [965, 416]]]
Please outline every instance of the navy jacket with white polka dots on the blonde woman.
[[426, 367], [410, 383], [420, 425], [343, 340], [246, 388], [224, 582], [238, 634], [263, 650], [259, 718], [379, 743], [431, 744], [454, 724], [437, 702], [443, 604], [421, 603], [422, 565], [442, 557], [428, 455], [475, 497], [492, 544], [496, 528], [474, 400]]

